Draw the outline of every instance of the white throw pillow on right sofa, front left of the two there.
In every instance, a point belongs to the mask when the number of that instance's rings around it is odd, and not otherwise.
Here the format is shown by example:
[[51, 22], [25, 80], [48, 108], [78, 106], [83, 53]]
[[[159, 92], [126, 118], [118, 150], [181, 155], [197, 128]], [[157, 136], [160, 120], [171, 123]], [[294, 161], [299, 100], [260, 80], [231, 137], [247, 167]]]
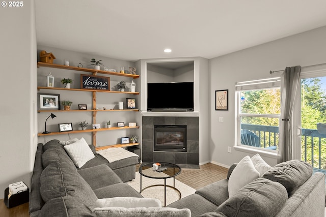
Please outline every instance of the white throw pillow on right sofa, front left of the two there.
[[260, 176], [249, 156], [244, 157], [234, 168], [229, 177], [229, 198], [244, 185]]

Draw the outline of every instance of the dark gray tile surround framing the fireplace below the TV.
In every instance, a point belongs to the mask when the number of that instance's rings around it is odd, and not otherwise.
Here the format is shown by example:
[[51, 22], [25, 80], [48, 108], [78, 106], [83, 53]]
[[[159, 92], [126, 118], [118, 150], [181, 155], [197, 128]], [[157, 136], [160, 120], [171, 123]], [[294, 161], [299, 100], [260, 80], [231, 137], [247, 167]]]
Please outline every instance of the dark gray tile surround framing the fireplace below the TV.
[[[186, 125], [187, 152], [154, 151], [154, 125]], [[143, 116], [142, 117], [143, 163], [169, 162], [181, 168], [199, 169], [199, 117]]]

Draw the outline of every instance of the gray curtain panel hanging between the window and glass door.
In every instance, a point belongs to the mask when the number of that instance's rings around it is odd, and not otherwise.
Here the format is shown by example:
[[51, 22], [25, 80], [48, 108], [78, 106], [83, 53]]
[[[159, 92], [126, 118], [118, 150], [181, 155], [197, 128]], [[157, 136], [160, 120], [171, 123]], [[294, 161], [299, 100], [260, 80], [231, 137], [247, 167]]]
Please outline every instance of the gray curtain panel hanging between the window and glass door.
[[281, 121], [278, 163], [293, 160], [293, 106], [300, 83], [301, 67], [286, 67], [281, 77]]

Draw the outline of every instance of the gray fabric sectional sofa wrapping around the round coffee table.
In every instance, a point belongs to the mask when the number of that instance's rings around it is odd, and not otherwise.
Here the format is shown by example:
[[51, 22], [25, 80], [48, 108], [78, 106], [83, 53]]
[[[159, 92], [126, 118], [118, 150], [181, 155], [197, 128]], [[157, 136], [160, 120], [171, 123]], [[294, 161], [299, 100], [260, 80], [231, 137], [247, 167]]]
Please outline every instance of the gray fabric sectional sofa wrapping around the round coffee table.
[[[90, 148], [95, 153], [92, 145]], [[142, 198], [124, 183], [134, 178], [134, 164], [138, 159], [120, 162], [119, 167], [119, 162], [109, 164], [100, 157], [76, 168], [58, 140], [38, 144], [31, 183], [30, 215], [95, 216], [93, 210], [97, 199]], [[312, 175], [309, 164], [302, 161], [281, 163], [229, 197], [229, 179], [236, 167], [237, 164], [230, 167], [227, 179], [209, 184], [168, 205], [168, 208], [187, 208], [191, 210], [191, 216], [324, 216], [325, 175]]]

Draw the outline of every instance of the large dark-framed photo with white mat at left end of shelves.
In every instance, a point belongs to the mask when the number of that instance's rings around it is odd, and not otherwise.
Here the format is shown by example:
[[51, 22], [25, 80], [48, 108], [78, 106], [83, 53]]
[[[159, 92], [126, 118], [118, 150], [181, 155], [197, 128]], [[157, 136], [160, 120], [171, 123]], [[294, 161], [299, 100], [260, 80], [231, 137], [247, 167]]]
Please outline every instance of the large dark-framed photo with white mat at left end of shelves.
[[38, 110], [60, 110], [59, 94], [37, 94]]

